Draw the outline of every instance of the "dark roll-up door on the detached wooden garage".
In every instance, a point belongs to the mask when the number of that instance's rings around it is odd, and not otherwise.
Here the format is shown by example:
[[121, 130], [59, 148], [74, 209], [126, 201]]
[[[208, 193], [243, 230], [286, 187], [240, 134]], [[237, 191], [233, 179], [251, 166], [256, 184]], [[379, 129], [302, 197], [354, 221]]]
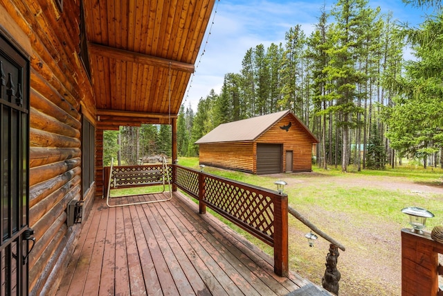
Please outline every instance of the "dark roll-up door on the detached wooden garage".
[[282, 145], [257, 143], [257, 175], [282, 172]]

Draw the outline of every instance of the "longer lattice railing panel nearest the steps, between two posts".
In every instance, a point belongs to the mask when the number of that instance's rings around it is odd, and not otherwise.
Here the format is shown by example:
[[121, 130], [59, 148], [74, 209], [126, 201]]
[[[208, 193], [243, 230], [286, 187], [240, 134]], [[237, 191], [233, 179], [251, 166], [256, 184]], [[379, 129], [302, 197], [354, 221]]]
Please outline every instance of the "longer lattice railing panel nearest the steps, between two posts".
[[263, 192], [246, 189], [235, 184], [205, 177], [204, 200], [226, 214], [243, 221], [266, 236], [273, 237], [273, 200]]

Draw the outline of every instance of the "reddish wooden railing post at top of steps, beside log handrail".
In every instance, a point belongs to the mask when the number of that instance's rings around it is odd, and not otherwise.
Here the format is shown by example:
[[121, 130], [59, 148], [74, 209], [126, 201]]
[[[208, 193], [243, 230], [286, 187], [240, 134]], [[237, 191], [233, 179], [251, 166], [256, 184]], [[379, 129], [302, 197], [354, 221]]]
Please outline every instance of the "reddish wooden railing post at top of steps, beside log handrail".
[[288, 195], [274, 198], [274, 272], [280, 277], [289, 274]]

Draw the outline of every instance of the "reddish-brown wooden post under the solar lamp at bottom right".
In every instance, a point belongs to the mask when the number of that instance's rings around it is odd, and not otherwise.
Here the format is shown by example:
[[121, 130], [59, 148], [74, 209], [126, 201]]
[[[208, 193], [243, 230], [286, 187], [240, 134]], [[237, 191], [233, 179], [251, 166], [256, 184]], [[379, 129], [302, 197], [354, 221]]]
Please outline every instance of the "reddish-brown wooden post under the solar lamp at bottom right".
[[401, 295], [437, 295], [438, 253], [443, 244], [429, 234], [401, 229]]

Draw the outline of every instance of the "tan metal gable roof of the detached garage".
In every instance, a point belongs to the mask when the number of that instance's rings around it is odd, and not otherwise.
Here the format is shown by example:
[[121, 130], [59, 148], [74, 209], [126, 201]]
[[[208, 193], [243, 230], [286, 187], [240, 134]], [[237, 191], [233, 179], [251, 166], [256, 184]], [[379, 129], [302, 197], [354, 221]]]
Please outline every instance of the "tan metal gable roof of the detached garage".
[[293, 119], [300, 123], [307, 133], [313, 137], [313, 142], [318, 143], [318, 139], [312, 134], [308, 128], [291, 113], [290, 110], [284, 110], [276, 113], [266, 114], [262, 116], [253, 117], [250, 119], [243, 119], [240, 121], [233, 121], [230, 123], [223, 123], [208, 134], [201, 137], [196, 144], [201, 143], [219, 143], [219, 142], [235, 142], [235, 141], [255, 141], [264, 132], [269, 130], [275, 123], [278, 123], [284, 116], [291, 114]]

